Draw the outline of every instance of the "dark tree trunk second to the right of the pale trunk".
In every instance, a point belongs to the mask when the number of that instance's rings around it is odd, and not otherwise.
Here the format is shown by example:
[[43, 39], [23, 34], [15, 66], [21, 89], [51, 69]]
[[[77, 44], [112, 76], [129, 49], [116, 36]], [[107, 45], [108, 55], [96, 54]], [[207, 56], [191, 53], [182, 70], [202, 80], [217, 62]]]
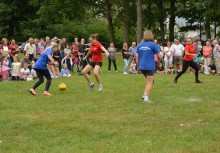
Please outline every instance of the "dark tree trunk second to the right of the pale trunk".
[[174, 26], [175, 26], [175, 3], [176, 0], [170, 0], [170, 23], [169, 23], [169, 39], [174, 41]]

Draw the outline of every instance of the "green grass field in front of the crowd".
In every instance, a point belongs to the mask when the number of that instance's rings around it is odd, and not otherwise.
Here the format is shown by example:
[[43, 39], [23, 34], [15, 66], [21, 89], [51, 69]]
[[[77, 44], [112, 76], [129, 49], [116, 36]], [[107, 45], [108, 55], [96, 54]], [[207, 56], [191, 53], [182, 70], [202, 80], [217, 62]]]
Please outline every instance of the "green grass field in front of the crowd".
[[[104, 91], [82, 76], [54, 79], [52, 97], [28, 92], [34, 82], [0, 83], [0, 153], [219, 153], [220, 78], [156, 75], [144, 104], [142, 75], [107, 72]], [[92, 76], [94, 80], [94, 77]], [[95, 81], [95, 80], [94, 80]], [[58, 90], [60, 83], [68, 89]]]

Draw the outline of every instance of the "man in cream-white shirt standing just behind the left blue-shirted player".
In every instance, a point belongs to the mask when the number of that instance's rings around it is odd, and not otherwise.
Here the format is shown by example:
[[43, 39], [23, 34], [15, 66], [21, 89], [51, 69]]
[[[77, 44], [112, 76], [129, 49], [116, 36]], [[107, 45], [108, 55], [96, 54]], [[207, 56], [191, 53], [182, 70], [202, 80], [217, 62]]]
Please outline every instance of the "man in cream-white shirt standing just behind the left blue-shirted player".
[[28, 43], [24, 47], [24, 53], [28, 53], [30, 61], [32, 61], [32, 59], [36, 55], [36, 47], [33, 43], [34, 43], [33, 38], [29, 38]]

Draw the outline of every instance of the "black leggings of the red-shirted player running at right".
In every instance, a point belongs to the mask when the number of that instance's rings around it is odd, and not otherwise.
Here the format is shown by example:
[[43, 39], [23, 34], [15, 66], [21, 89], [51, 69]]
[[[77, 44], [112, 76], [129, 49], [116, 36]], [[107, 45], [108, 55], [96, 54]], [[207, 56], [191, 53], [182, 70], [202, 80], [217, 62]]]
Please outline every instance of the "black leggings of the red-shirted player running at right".
[[183, 70], [176, 76], [176, 80], [178, 80], [178, 78], [184, 74], [186, 72], [186, 70], [188, 69], [188, 67], [191, 67], [195, 70], [195, 79], [196, 81], [198, 81], [198, 77], [199, 77], [199, 67], [198, 65], [194, 62], [194, 61], [186, 61], [186, 60], [183, 60]]

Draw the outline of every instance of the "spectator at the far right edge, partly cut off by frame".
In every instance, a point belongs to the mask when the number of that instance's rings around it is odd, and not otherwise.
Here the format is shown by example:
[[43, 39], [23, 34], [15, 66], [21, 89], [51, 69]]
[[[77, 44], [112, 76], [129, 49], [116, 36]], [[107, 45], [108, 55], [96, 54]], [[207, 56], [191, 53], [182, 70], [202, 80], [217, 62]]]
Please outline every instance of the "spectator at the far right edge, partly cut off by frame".
[[213, 54], [215, 59], [217, 75], [220, 75], [220, 46], [218, 44], [218, 40], [214, 40], [213, 45], [214, 45]]

